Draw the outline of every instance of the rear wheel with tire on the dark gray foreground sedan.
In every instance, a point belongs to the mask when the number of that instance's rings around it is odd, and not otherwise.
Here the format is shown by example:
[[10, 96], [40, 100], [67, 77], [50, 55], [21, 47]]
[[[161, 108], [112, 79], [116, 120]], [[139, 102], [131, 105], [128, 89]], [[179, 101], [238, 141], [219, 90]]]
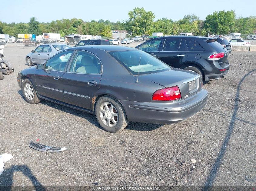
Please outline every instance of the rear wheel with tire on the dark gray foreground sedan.
[[[106, 109], [106, 106], [108, 109]], [[115, 116], [112, 116], [114, 113]], [[121, 103], [111, 96], [103, 96], [99, 98], [95, 106], [95, 114], [101, 127], [105, 131], [111, 133], [116, 133], [125, 129], [129, 123]]]

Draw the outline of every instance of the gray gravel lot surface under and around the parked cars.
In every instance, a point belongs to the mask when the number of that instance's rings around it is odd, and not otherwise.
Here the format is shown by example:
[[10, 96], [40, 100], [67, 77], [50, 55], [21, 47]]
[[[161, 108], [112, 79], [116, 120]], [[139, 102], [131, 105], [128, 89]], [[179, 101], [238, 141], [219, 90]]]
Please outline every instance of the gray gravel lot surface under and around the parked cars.
[[[15, 72], [0, 81], [0, 154], [13, 158], [5, 163], [0, 186], [256, 185], [256, 52], [232, 52], [230, 72], [204, 84], [208, 104], [190, 119], [130, 122], [111, 134], [94, 115], [24, 100], [16, 78], [28, 68], [25, 55], [32, 49], [4, 48]], [[68, 150], [36, 151], [28, 144], [37, 139]]]

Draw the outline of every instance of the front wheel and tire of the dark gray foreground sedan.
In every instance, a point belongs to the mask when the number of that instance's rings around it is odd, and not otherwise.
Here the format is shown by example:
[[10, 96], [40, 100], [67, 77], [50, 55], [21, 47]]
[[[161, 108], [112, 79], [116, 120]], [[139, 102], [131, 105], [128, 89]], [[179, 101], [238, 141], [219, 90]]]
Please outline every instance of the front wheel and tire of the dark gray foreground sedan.
[[32, 82], [27, 78], [22, 82], [22, 93], [26, 102], [31, 104], [40, 103], [42, 99], [38, 98]]

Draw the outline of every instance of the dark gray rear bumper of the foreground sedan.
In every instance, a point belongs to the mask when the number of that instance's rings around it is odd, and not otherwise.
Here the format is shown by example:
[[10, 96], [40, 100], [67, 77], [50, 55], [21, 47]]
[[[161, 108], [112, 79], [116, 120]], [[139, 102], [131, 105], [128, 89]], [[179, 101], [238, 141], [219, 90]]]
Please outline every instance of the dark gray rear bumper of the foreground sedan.
[[181, 122], [204, 108], [208, 91], [202, 89], [187, 99], [175, 101], [135, 102], [119, 100], [129, 121], [141, 123], [171, 124]]

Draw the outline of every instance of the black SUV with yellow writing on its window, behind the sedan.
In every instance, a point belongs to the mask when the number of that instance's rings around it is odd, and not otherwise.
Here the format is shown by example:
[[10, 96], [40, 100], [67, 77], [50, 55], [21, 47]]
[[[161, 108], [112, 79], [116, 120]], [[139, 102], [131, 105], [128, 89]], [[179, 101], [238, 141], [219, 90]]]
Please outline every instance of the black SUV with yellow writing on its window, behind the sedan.
[[228, 50], [216, 38], [170, 36], [142, 43], [141, 49], [166, 64], [196, 72], [204, 81], [219, 79], [228, 73]]

